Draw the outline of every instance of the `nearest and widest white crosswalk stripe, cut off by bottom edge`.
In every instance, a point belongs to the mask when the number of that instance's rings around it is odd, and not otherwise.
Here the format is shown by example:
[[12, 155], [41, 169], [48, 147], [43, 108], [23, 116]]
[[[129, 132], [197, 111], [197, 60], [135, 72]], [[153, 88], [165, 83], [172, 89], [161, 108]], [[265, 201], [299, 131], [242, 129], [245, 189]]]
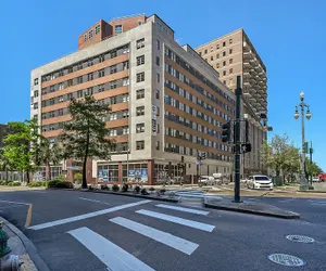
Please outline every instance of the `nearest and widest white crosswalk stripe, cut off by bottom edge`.
[[97, 256], [108, 267], [108, 270], [154, 271], [135, 256], [86, 227], [68, 231], [68, 234]]

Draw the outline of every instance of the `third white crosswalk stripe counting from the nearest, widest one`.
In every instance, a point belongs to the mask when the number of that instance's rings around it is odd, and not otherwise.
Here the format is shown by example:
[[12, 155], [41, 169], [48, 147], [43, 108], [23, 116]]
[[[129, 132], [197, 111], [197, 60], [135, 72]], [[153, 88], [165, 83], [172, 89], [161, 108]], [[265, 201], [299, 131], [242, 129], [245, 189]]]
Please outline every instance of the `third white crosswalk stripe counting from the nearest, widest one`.
[[193, 221], [193, 220], [188, 220], [188, 219], [184, 219], [184, 218], [179, 218], [179, 217], [168, 216], [168, 215], [164, 215], [164, 214], [160, 214], [160, 212], [151, 211], [151, 210], [141, 209], [141, 210], [137, 210], [136, 212], [140, 214], [140, 215], [145, 215], [145, 216], [166, 220], [166, 221], [170, 221], [170, 222], [174, 222], [174, 223], [177, 223], [177, 224], [187, 225], [187, 227], [195, 228], [195, 229], [198, 229], [198, 230], [202, 230], [202, 231], [205, 231], [205, 232], [212, 232], [215, 228], [215, 225], [201, 223], [201, 222], [197, 222], [197, 221]]

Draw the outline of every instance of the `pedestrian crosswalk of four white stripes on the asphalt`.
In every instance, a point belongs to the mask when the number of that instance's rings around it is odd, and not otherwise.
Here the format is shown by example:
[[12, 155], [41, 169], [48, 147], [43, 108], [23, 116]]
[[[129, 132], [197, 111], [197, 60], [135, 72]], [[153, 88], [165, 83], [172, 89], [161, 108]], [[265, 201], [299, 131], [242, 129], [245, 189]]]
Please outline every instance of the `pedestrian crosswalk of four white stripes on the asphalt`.
[[[108, 223], [113, 223], [115, 225], [122, 227], [130, 231], [131, 234], [142, 235], [146, 238], [153, 240], [164, 246], [178, 250], [187, 256], [193, 254], [200, 244], [197, 244], [190, 240], [180, 237], [170, 233], [168, 231], [162, 231], [161, 229], [155, 229], [148, 224], [149, 218], [153, 219], [154, 222], [163, 220], [165, 222], [171, 222], [181, 227], [191, 228], [199, 230], [201, 232], [211, 233], [215, 225], [203, 223], [197, 220], [192, 220], [193, 216], [200, 218], [202, 216], [208, 216], [209, 211], [201, 209], [185, 208], [176, 205], [158, 204], [154, 206], [155, 211], [149, 209], [138, 209], [135, 211], [137, 215], [137, 221], [134, 221], [127, 217], [116, 216], [109, 219]], [[161, 212], [162, 211], [162, 212]], [[173, 211], [173, 215], [178, 214], [179, 216], [167, 215], [166, 211]], [[191, 220], [183, 218], [183, 214], [192, 215]], [[139, 215], [139, 217], [138, 217]], [[141, 220], [146, 217], [147, 219]], [[141, 221], [141, 222], [139, 222]], [[145, 222], [143, 222], [145, 221]], [[152, 224], [151, 224], [152, 225]], [[175, 228], [173, 228], [175, 229]], [[106, 237], [103, 237], [99, 233], [92, 231], [89, 228], [83, 227], [68, 232], [76, 241], [82, 243], [89, 251], [102, 261], [108, 270], [118, 270], [118, 271], [148, 271], [154, 270], [153, 267], [148, 266], [138, 258], [136, 258], [133, 253], [128, 253], [114, 244]], [[184, 234], [183, 234], [184, 235]]]

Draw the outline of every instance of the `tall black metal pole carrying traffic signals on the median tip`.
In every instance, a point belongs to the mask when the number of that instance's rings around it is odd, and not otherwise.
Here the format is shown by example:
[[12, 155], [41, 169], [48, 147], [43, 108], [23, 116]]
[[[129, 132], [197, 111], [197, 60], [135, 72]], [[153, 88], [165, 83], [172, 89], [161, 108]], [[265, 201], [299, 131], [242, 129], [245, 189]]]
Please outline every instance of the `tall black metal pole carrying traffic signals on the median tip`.
[[237, 76], [236, 126], [235, 126], [235, 203], [240, 203], [240, 116], [241, 116], [241, 76]]

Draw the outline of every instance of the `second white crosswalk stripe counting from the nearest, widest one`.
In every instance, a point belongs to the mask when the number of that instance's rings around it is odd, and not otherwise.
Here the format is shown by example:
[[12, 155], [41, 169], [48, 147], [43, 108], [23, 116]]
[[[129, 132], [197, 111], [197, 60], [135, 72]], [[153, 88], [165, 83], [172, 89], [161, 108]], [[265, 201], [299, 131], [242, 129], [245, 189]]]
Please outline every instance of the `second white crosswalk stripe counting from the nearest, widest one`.
[[180, 238], [166, 232], [159, 231], [154, 228], [135, 222], [126, 218], [116, 217], [110, 219], [110, 221], [127, 228], [134, 232], [140, 233], [187, 255], [191, 255], [199, 247], [199, 245], [196, 243]]

